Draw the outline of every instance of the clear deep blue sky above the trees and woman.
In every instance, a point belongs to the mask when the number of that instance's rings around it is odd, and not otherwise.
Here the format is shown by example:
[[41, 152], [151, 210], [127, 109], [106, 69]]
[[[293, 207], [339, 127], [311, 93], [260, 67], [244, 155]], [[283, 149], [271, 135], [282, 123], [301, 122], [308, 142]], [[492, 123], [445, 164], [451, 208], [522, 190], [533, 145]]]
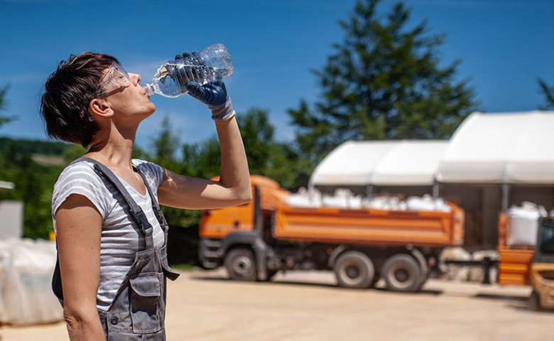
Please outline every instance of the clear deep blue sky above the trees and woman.
[[[38, 116], [43, 84], [60, 60], [83, 51], [115, 55], [130, 72], [151, 80], [159, 65], [183, 50], [224, 43], [234, 59], [225, 80], [237, 112], [267, 109], [276, 139], [292, 139], [287, 109], [320, 94], [310, 69], [319, 69], [339, 43], [355, 0], [67, 1], [0, 0], [0, 87], [4, 115], [16, 121], [0, 136], [46, 139]], [[382, 1], [386, 13], [396, 1]], [[428, 20], [445, 33], [445, 65], [462, 60], [485, 112], [537, 109], [543, 103], [537, 77], [554, 84], [554, 1], [408, 0], [412, 22]], [[180, 141], [214, 134], [204, 104], [185, 95], [153, 95], [157, 111], [141, 124], [139, 146], [148, 146], [163, 117]]]

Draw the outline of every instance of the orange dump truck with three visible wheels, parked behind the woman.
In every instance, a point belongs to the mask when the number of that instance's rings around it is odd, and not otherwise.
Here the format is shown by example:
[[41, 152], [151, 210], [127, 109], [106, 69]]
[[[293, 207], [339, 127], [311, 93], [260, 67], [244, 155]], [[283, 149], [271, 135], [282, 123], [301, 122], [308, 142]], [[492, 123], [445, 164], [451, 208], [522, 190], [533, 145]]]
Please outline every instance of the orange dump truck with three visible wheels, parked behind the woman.
[[275, 181], [251, 176], [249, 204], [208, 210], [200, 220], [200, 260], [229, 277], [266, 281], [277, 271], [332, 270], [340, 286], [418, 291], [444, 247], [460, 246], [464, 211], [296, 207]]

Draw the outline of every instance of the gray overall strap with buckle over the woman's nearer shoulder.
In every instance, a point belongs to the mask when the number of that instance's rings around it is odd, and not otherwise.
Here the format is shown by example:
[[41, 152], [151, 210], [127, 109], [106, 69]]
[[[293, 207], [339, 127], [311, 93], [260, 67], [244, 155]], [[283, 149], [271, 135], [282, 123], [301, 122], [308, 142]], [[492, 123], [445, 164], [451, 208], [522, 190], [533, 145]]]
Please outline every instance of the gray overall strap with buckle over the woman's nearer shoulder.
[[[146, 243], [146, 249], [153, 249], [154, 247], [154, 241], [152, 237], [153, 227], [148, 222], [148, 219], [146, 218], [146, 215], [144, 214], [141, 207], [135, 202], [133, 197], [129, 194], [129, 192], [125, 189], [125, 186], [119, 181], [117, 176], [114, 174], [114, 172], [110, 171], [109, 168], [104, 166], [99, 161], [94, 160], [94, 158], [87, 158], [85, 156], [81, 158], [77, 158], [74, 162], [77, 161], [89, 161], [94, 163], [94, 171], [98, 173], [102, 178], [107, 180], [109, 183], [112, 183], [114, 187], [119, 190], [119, 193], [123, 196], [125, 202], [127, 202], [127, 205], [129, 205], [129, 209], [131, 210], [131, 217], [136, 222], [136, 224], [141, 227], [141, 230], [144, 234], [144, 242]], [[140, 174], [140, 173], [139, 173]], [[142, 176], [142, 175], [141, 175]], [[146, 188], [148, 189], [148, 185], [146, 184], [146, 181], [144, 183], [146, 185]]]

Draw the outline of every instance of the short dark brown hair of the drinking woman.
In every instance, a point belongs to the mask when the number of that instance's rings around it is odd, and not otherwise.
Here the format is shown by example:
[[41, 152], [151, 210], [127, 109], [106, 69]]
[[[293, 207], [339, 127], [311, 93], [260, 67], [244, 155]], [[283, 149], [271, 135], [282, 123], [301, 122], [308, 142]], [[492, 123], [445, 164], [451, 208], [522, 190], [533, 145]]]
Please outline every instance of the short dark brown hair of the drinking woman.
[[100, 81], [113, 63], [119, 60], [112, 55], [86, 52], [58, 64], [40, 101], [48, 137], [89, 146], [99, 131], [98, 124], [89, 119], [89, 104], [102, 91]]

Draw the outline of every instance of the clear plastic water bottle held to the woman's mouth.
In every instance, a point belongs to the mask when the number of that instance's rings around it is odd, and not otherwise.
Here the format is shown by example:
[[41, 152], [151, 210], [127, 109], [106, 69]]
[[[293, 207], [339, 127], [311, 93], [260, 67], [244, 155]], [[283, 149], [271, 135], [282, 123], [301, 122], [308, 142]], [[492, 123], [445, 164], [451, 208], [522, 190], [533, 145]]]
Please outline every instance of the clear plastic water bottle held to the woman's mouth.
[[188, 92], [188, 82], [205, 85], [233, 73], [233, 60], [223, 44], [210, 45], [199, 55], [170, 60], [156, 71], [152, 82], [143, 86], [148, 94], [178, 97]]

